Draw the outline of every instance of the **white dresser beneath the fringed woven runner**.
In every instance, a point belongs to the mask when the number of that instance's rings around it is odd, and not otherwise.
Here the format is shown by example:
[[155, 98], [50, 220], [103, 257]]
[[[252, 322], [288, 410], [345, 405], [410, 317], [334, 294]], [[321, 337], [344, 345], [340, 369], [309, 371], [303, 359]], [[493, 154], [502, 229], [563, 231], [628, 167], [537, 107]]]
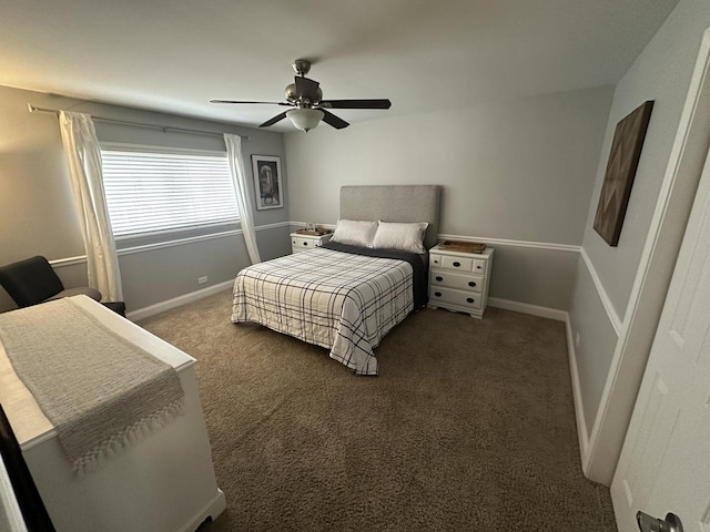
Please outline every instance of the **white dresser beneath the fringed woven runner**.
[[[73, 299], [115, 335], [173, 366], [187, 408], [144, 440], [116, 452], [97, 471], [78, 475], [65, 458], [57, 430], [34, 400], [29, 400], [29, 391], [19, 385], [0, 389], [3, 408], [54, 529], [191, 532], [206, 518], [216, 519], [225, 509], [225, 498], [214, 475], [195, 359], [93, 299]], [[19, 382], [8, 370], [11, 366], [4, 349], [0, 359], [0, 367], [4, 368], [1, 377]]]

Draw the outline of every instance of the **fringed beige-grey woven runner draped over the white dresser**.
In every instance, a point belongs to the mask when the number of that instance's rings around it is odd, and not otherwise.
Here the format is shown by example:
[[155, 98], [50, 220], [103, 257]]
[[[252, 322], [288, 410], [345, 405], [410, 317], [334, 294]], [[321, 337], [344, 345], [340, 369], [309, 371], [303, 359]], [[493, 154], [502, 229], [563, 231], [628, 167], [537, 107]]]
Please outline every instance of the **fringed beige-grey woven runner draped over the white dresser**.
[[75, 471], [95, 469], [184, 410], [172, 366], [71, 299], [1, 314], [0, 341]]

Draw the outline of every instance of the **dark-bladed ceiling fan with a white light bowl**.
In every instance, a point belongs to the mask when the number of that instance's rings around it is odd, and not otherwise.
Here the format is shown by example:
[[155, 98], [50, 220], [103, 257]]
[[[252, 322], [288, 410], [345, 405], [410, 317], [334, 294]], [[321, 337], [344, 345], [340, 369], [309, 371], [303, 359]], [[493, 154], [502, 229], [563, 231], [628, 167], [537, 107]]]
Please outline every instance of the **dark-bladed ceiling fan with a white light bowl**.
[[210, 100], [211, 103], [245, 103], [245, 104], [272, 104], [294, 108], [267, 120], [260, 127], [268, 127], [276, 122], [288, 117], [298, 130], [305, 131], [316, 127], [321, 120], [326, 124], [342, 130], [348, 124], [343, 119], [334, 115], [328, 109], [389, 109], [389, 100], [322, 100], [323, 91], [317, 81], [310, 80], [306, 74], [311, 70], [311, 61], [296, 59], [292, 64], [296, 71], [294, 82], [286, 86], [285, 102], [245, 102], [237, 100]]

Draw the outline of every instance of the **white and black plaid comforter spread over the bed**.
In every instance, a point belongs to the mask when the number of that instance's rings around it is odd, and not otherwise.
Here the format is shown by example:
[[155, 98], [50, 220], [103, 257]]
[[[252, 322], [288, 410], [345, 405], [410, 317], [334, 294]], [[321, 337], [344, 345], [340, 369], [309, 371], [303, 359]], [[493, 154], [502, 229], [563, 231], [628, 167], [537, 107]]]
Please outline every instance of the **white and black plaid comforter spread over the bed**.
[[413, 308], [407, 262], [316, 248], [241, 270], [232, 321], [258, 323], [331, 349], [357, 375], [377, 375], [373, 348]]

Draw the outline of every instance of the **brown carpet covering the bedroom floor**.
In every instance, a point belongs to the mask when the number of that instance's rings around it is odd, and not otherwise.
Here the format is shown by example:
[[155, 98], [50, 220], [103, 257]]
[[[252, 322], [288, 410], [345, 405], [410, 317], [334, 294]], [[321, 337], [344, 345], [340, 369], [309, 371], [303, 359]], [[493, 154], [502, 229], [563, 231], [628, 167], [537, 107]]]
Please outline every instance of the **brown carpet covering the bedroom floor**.
[[561, 323], [409, 316], [356, 377], [230, 321], [230, 293], [141, 323], [194, 356], [222, 531], [615, 531], [584, 478]]

